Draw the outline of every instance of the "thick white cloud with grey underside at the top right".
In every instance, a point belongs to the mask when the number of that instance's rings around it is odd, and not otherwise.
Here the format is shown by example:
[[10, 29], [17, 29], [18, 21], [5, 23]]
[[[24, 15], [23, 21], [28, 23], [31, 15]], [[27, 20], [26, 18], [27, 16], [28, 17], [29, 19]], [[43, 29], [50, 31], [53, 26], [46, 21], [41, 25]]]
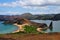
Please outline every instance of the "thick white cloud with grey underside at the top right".
[[60, 0], [26, 0], [26, 6], [43, 7], [43, 6], [60, 6]]

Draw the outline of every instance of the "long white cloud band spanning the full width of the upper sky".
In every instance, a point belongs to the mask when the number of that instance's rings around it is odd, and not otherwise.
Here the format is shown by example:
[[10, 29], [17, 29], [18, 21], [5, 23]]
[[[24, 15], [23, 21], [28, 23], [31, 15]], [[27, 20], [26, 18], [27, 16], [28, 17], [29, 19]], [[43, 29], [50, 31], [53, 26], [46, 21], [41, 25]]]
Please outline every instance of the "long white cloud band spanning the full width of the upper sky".
[[0, 6], [8, 6], [8, 7], [41, 7], [41, 6], [60, 6], [60, 0], [16, 0], [15, 2], [10, 3], [0, 3]]

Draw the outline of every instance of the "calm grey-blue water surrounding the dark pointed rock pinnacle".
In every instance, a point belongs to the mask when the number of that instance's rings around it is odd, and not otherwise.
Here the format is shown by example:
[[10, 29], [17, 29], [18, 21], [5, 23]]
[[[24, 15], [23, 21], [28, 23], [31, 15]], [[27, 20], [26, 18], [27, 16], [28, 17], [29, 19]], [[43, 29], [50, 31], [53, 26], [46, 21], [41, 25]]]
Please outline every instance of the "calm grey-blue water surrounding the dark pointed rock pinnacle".
[[[46, 23], [48, 26], [51, 23], [51, 20], [31, 20], [31, 21], [34, 21], [37, 23]], [[53, 29], [52, 30], [47, 29], [44, 32], [60, 32], [60, 21], [52, 21], [52, 22], [53, 22], [53, 25], [52, 25]]]

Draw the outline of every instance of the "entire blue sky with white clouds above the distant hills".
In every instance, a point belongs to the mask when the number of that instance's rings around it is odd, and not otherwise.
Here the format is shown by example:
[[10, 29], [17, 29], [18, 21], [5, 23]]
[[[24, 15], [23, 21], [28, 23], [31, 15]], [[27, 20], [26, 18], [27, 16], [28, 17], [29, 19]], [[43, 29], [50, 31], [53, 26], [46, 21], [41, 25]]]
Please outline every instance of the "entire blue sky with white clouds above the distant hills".
[[0, 0], [0, 15], [60, 13], [60, 0]]

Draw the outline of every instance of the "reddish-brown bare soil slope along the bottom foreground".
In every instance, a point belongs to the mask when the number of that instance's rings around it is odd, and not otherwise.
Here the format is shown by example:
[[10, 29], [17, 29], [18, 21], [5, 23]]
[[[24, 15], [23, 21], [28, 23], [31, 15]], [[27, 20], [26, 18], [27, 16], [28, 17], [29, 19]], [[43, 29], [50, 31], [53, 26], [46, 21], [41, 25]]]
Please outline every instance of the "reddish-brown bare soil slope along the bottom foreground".
[[0, 36], [0, 40], [60, 40], [60, 33], [53, 34], [7, 34]]

